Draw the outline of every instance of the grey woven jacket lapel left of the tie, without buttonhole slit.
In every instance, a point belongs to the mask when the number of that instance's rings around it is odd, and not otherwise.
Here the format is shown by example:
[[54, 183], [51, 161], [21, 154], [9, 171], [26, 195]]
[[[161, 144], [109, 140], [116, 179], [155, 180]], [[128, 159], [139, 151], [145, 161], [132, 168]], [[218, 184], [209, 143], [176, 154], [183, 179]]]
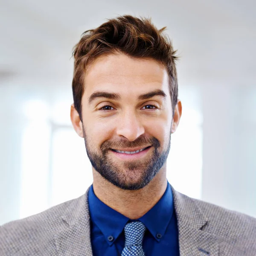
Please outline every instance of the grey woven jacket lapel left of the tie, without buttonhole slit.
[[55, 235], [59, 256], [93, 256], [90, 243], [88, 191], [89, 188], [84, 195], [70, 201], [67, 210], [61, 216], [64, 227]]

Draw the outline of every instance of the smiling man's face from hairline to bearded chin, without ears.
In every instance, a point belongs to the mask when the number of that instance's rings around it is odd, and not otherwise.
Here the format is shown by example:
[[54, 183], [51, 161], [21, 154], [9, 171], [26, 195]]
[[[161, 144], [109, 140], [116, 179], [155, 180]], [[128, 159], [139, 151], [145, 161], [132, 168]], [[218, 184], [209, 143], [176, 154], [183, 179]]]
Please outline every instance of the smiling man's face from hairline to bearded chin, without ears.
[[154, 60], [109, 55], [96, 59], [84, 84], [82, 127], [93, 168], [121, 189], [143, 188], [170, 149], [166, 69]]

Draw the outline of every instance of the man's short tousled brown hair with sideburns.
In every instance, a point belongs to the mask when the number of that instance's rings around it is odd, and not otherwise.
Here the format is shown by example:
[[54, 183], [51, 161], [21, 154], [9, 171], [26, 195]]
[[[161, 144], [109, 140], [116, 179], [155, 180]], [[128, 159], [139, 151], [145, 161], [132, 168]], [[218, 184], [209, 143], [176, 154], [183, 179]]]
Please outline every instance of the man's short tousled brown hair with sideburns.
[[84, 93], [86, 67], [97, 57], [116, 52], [135, 58], [154, 59], [163, 64], [169, 75], [169, 89], [174, 110], [178, 96], [175, 66], [177, 56], [172, 41], [162, 33], [165, 29], [166, 27], [158, 30], [151, 23], [151, 19], [124, 15], [108, 19], [98, 28], [87, 30], [82, 34], [73, 50], [75, 61], [72, 81], [74, 106], [81, 120], [81, 98]]

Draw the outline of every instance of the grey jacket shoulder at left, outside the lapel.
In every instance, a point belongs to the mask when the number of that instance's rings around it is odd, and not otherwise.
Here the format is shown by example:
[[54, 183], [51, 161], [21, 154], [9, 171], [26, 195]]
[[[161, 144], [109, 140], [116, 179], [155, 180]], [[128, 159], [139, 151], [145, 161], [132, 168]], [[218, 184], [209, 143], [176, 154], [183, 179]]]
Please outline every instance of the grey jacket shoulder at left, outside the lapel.
[[72, 199], [38, 214], [0, 226], [0, 255], [15, 255], [17, 251], [20, 253], [18, 255], [26, 255], [26, 251], [31, 253], [32, 247], [33, 255], [45, 253], [47, 247], [51, 250], [55, 247], [54, 235], [66, 227], [62, 215], [67, 209], [76, 209], [78, 201], [79, 198]]

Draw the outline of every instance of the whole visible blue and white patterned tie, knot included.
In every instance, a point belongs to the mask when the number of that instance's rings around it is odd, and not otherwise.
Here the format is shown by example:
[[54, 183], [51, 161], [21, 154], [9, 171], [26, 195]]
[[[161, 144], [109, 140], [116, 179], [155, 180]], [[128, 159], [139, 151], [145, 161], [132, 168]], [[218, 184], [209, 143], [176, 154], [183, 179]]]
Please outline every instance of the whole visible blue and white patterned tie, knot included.
[[125, 225], [125, 247], [122, 250], [122, 256], [145, 256], [142, 248], [145, 230], [145, 225], [140, 221]]

